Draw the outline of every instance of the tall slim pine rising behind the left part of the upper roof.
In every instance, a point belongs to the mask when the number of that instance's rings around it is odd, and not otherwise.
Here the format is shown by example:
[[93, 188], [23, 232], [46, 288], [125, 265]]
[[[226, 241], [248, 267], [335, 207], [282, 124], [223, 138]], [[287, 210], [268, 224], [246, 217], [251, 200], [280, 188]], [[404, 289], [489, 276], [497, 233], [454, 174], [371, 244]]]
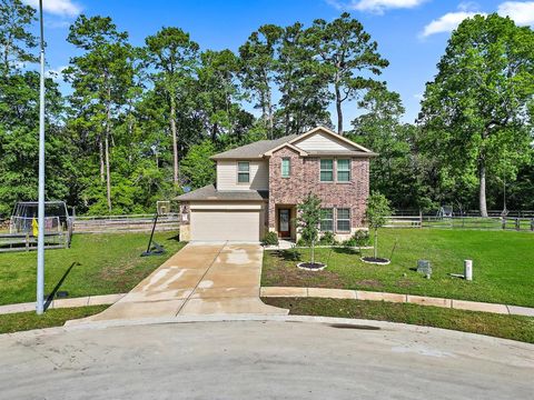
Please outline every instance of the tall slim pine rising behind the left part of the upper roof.
[[283, 28], [265, 24], [253, 32], [247, 42], [239, 48], [241, 58], [241, 83], [257, 98], [256, 107], [261, 109], [261, 119], [273, 139], [274, 104], [271, 86], [276, 73], [278, 51]]

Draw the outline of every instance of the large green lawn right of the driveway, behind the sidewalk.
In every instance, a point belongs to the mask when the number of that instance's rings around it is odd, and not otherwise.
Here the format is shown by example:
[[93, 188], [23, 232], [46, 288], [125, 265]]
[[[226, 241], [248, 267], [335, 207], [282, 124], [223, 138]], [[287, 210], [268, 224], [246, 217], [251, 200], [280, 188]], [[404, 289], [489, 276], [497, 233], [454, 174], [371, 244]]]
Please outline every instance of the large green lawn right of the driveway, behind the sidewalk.
[[[528, 232], [383, 229], [378, 256], [388, 266], [367, 264], [349, 249], [316, 249], [316, 259], [328, 268], [298, 270], [296, 260], [308, 259], [308, 249], [267, 251], [261, 286], [318, 287], [411, 293], [462, 300], [534, 307], [534, 236]], [[372, 250], [364, 250], [370, 256]], [[295, 257], [296, 256], [296, 257]], [[417, 260], [429, 260], [432, 279], [415, 271]], [[472, 282], [452, 278], [463, 273], [463, 260], [473, 260]]]

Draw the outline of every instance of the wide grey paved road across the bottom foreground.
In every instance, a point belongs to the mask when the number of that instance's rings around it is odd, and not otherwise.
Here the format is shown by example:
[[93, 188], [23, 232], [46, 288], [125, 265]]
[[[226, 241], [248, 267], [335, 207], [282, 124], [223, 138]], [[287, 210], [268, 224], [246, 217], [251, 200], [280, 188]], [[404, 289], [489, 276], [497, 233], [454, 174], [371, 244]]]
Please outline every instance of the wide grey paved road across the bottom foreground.
[[533, 399], [534, 346], [427, 328], [195, 322], [0, 336], [2, 399]]

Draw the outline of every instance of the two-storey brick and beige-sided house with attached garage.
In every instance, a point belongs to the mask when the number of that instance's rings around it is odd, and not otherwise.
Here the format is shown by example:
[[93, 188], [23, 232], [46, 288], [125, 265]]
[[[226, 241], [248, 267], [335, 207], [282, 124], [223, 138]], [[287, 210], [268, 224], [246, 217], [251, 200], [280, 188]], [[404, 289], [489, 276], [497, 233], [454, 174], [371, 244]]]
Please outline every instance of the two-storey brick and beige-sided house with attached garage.
[[217, 182], [179, 196], [182, 240], [297, 239], [297, 204], [322, 199], [322, 231], [343, 240], [364, 227], [370, 150], [319, 127], [212, 156]]

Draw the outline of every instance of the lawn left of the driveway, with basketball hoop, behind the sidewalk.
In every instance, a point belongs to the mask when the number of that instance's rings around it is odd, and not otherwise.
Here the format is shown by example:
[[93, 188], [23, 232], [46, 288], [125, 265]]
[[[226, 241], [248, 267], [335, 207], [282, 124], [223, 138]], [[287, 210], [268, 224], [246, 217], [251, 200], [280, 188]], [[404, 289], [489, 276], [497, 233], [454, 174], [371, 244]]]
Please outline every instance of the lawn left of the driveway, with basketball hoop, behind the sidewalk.
[[[174, 232], [158, 232], [155, 240], [167, 250], [141, 258], [148, 233], [76, 234], [70, 249], [47, 250], [44, 293], [55, 288], [70, 298], [123, 293], [181, 249]], [[36, 300], [37, 252], [0, 253], [0, 304]]]

